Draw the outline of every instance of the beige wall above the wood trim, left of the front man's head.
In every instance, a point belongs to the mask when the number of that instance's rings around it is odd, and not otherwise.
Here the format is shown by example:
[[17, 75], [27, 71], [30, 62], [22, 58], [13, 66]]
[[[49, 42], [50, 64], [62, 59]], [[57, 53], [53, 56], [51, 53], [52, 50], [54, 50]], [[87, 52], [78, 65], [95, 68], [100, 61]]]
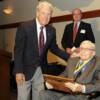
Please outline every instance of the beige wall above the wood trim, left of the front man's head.
[[15, 23], [25, 20], [33, 19], [35, 16], [35, 8], [37, 4], [37, 0], [4, 0], [4, 1], [12, 1], [12, 3], [6, 4], [6, 2], [0, 2], [3, 6], [1, 9], [7, 6], [11, 6], [14, 12], [11, 15], [5, 15], [0, 12], [3, 20], [0, 20], [0, 24], [8, 24]]

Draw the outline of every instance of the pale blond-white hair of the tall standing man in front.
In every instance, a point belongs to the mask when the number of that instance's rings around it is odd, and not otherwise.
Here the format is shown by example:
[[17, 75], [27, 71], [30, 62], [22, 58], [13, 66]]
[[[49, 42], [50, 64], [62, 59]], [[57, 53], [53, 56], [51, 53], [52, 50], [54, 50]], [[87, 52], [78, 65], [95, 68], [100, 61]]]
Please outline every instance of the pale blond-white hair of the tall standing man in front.
[[40, 1], [39, 4], [37, 5], [37, 11], [44, 6], [49, 7], [51, 13], [53, 12], [53, 5], [47, 1]]

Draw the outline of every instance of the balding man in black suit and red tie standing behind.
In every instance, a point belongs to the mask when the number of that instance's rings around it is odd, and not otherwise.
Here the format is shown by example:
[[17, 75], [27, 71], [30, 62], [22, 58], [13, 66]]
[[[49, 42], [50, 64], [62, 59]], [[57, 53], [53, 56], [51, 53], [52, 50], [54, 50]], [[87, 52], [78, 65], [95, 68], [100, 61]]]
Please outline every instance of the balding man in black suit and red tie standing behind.
[[67, 53], [78, 51], [80, 43], [90, 40], [95, 43], [94, 34], [89, 23], [81, 21], [82, 11], [78, 8], [72, 11], [73, 23], [66, 25], [61, 44]]

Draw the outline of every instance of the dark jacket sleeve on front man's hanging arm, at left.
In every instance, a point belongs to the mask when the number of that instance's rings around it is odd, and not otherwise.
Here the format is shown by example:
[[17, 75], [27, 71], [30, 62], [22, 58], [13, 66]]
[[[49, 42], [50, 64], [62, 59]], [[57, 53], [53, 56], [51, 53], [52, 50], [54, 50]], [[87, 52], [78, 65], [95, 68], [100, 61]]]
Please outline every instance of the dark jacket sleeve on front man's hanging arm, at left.
[[20, 25], [17, 29], [15, 38], [14, 74], [23, 73], [24, 45], [25, 45], [25, 32], [22, 25]]

